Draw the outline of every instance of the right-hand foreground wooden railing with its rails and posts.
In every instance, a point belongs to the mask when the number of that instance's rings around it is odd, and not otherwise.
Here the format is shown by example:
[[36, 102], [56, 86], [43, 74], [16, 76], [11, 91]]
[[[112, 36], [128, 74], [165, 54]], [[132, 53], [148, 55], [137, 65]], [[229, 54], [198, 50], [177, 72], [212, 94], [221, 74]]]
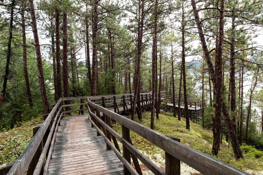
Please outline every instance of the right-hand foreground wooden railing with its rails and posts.
[[[197, 171], [208, 174], [235, 174], [235, 175], [248, 175], [248, 173], [230, 166], [222, 161], [219, 161], [211, 156], [208, 156], [200, 151], [175, 141], [176, 138], [158, 133], [140, 123], [130, 120], [118, 113], [104, 108], [102, 105], [96, 104], [93, 101], [106, 101], [106, 97], [90, 97], [88, 98], [89, 113], [91, 116], [91, 123], [97, 129], [97, 134], [101, 135], [107, 144], [107, 149], [112, 149], [124, 165], [124, 174], [137, 175], [142, 174], [140, 166], [138, 165], [139, 159], [147, 168], [154, 174], [180, 174], [180, 161], [193, 167]], [[104, 105], [105, 106], [105, 105]], [[105, 116], [105, 122], [101, 119], [101, 113]], [[122, 125], [122, 135], [119, 135], [112, 129], [110, 121], [114, 120]], [[131, 142], [130, 130], [142, 136], [144, 139], [155, 144], [165, 151], [165, 172], [151, 162], [146, 156], [138, 151]], [[113, 139], [113, 143], [112, 140]], [[117, 143], [118, 139], [123, 144], [123, 154], [120, 153]], [[133, 159], [135, 169], [130, 165], [131, 158]], [[179, 162], [179, 163], [178, 163]]]

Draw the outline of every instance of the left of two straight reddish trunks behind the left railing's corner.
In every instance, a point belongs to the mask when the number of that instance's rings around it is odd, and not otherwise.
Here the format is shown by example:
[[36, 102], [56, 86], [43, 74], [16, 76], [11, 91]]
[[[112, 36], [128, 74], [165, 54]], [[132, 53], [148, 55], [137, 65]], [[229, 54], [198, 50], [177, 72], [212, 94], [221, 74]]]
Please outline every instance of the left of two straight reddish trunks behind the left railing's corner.
[[62, 97], [61, 66], [60, 66], [60, 22], [59, 11], [56, 9], [56, 63], [57, 63], [57, 90], [58, 99]]

